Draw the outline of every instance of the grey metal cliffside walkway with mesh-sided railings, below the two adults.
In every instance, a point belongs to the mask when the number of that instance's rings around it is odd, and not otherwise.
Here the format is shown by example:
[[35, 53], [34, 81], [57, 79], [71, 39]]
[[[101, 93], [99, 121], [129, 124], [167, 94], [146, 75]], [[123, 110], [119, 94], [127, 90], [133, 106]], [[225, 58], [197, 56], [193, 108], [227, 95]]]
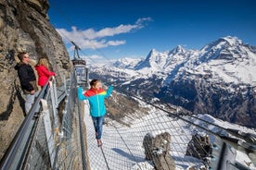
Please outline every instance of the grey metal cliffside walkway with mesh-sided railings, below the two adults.
[[76, 114], [75, 72], [64, 82], [57, 87], [55, 79], [48, 80], [40, 91], [1, 160], [1, 170], [81, 169], [83, 137], [73, 130], [82, 123], [81, 115]]

